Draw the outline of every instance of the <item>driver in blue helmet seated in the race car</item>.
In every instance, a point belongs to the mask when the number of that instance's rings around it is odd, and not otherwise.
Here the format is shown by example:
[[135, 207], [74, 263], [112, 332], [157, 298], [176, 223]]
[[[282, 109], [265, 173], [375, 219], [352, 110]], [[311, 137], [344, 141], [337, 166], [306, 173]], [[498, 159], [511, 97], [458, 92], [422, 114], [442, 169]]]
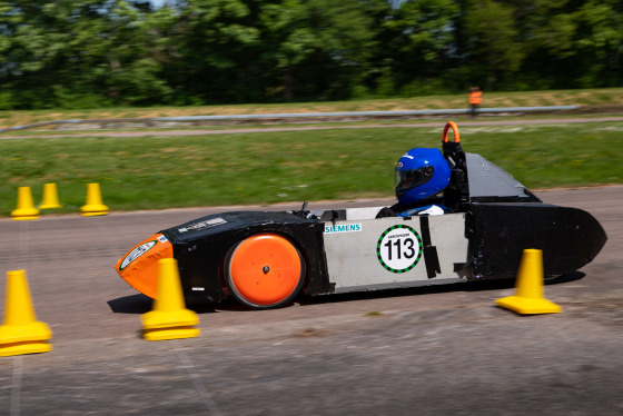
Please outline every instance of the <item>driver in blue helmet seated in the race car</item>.
[[376, 218], [434, 216], [449, 211], [441, 204], [441, 192], [449, 185], [451, 172], [439, 149], [411, 149], [394, 169], [394, 190], [398, 204], [383, 208]]

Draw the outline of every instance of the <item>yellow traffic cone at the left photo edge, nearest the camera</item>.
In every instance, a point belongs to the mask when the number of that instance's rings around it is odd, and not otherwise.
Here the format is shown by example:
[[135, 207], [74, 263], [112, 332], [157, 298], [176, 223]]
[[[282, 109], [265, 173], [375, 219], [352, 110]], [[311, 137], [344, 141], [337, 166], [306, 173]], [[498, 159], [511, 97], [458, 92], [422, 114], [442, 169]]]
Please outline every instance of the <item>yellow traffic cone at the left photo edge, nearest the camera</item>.
[[0, 326], [0, 357], [48, 353], [52, 337], [47, 324], [34, 318], [24, 270], [7, 273], [4, 325]]

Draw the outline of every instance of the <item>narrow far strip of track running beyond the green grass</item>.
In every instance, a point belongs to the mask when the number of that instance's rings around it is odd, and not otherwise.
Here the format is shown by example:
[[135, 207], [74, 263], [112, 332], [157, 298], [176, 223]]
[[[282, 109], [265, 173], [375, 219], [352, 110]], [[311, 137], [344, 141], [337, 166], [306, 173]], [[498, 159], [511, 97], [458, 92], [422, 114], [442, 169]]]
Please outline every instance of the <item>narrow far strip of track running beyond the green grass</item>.
[[[326, 120], [324, 120], [326, 121]], [[567, 125], [584, 122], [610, 122], [623, 121], [623, 117], [593, 117], [593, 118], [568, 118], [568, 119], [527, 119], [527, 120], [483, 120], [483, 121], [461, 121], [462, 127], [481, 126], [526, 126], [526, 125]], [[314, 121], [310, 121], [314, 122]], [[320, 121], [318, 121], [320, 122]], [[31, 139], [31, 138], [65, 138], [65, 137], [176, 137], [176, 136], [205, 136], [205, 135], [231, 135], [231, 133], [255, 133], [255, 132], [276, 132], [276, 131], [300, 131], [300, 130], [332, 130], [332, 129], [368, 129], [368, 128], [416, 128], [416, 127], [439, 127], [445, 121], [419, 122], [419, 123], [390, 123], [390, 125], [352, 125], [352, 126], [293, 126], [293, 127], [264, 127], [264, 128], [236, 128], [236, 129], [160, 129], [158, 131], [90, 131], [57, 135], [37, 136], [10, 136], [0, 135], [1, 139]], [[122, 125], [120, 125], [122, 126]]]

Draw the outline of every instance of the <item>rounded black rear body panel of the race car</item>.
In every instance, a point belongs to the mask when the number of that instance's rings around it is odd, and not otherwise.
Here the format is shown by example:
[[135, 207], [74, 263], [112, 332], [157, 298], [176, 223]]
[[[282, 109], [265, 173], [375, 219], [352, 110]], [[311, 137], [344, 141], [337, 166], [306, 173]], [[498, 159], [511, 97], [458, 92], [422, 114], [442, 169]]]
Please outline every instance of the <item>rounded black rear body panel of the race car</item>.
[[534, 202], [471, 204], [467, 234], [476, 278], [514, 278], [525, 248], [543, 250], [545, 275], [563, 275], [591, 263], [607, 240], [589, 212]]

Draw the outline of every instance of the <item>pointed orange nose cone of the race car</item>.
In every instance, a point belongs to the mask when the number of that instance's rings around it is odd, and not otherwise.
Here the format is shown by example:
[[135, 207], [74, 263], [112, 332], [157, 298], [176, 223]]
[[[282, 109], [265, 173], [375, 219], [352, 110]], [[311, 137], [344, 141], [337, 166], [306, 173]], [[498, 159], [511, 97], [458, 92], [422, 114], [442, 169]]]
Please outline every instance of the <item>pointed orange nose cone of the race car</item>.
[[115, 270], [131, 287], [156, 299], [158, 260], [164, 258], [174, 258], [174, 246], [162, 234], [155, 234], [121, 257], [115, 265]]

